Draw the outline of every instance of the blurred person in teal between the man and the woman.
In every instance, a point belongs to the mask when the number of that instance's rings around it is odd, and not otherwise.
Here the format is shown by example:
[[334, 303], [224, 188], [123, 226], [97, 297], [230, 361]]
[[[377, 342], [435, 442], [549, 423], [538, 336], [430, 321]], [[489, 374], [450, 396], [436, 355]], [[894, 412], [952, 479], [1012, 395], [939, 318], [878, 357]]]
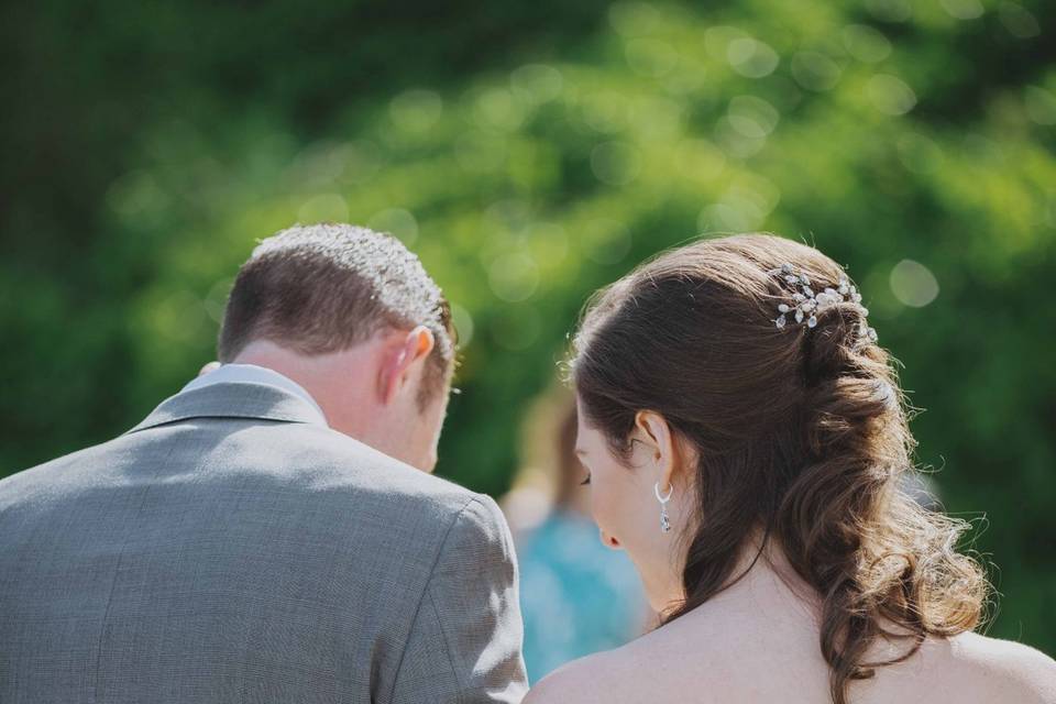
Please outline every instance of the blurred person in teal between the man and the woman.
[[524, 426], [525, 464], [502, 502], [520, 560], [530, 682], [624, 645], [652, 617], [630, 560], [598, 539], [575, 428], [571, 394], [554, 388], [543, 395]]

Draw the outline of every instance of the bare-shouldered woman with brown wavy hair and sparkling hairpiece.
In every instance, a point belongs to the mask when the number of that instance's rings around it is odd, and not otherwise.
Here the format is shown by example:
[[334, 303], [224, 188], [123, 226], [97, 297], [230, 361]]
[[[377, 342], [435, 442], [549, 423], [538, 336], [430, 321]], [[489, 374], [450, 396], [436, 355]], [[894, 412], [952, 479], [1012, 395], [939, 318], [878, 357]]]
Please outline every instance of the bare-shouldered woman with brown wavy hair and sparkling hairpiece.
[[901, 486], [906, 406], [843, 267], [702, 240], [596, 295], [574, 338], [576, 452], [602, 539], [661, 626], [526, 702], [1056, 702], [1056, 663], [976, 635], [963, 521]]

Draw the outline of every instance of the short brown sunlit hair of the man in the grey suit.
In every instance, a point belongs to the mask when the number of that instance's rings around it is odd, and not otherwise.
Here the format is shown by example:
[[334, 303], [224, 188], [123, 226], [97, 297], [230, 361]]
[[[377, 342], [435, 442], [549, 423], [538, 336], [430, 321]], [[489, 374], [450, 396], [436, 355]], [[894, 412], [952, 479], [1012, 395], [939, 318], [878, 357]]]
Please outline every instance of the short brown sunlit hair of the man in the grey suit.
[[454, 369], [451, 308], [418, 257], [396, 238], [342, 223], [294, 226], [262, 241], [242, 265], [220, 329], [230, 362], [254, 340], [326, 354], [383, 329], [426, 326], [436, 338], [419, 403]]

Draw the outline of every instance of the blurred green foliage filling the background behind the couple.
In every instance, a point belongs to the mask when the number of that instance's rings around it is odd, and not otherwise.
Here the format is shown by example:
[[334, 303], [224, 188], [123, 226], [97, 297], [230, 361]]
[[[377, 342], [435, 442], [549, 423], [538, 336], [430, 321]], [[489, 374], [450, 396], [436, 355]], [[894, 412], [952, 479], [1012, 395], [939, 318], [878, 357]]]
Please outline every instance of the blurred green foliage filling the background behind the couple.
[[254, 241], [336, 219], [457, 306], [439, 473], [498, 494], [593, 289], [765, 229], [861, 284], [921, 464], [986, 528], [991, 632], [1056, 651], [1052, 3], [2, 12], [0, 476], [134, 425], [212, 359]]

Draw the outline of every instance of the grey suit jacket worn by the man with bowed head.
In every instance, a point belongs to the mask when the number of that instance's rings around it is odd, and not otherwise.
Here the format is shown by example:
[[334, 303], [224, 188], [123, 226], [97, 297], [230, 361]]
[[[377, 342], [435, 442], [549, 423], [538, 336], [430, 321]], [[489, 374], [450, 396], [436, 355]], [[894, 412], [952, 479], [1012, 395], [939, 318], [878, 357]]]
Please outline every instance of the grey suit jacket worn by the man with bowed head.
[[0, 702], [518, 702], [495, 503], [260, 384], [0, 482]]

